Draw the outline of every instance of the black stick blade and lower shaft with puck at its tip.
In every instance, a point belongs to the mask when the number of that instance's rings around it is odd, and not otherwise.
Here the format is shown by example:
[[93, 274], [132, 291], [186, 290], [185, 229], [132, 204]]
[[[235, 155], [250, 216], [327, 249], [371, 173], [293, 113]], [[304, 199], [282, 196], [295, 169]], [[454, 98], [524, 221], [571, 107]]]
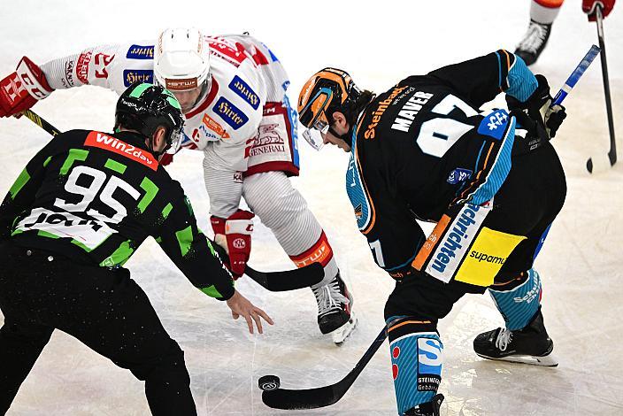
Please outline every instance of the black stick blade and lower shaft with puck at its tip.
[[[383, 327], [381, 333], [374, 339], [372, 345], [365, 351], [364, 356], [359, 359], [355, 368], [350, 370], [349, 374], [334, 384], [318, 387], [316, 389], [266, 389], [262, 393], [262, 401], [273, 409], [294, 410], [294, 409], [317, 409], [319, 407], [325, 407], [331, 404], [335, 404], [340, 400], [344, 394], [350, 389], [350, 386], [357, 379], [358, 375], [362, 372], [370, 359], [373, 358], [374, 353], [381, 347], [381, 344], [385, 342], [385, 338], [388, 336], [386, 327]], [[274, 386], [279, 386], [280, 381], [276, 376], [273, 377]]]

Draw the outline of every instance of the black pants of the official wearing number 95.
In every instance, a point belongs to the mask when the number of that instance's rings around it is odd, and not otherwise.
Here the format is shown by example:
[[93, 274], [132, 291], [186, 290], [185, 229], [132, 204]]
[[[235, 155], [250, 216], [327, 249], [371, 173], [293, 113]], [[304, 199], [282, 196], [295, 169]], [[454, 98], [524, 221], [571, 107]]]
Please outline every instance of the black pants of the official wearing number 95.
[[12, 243], [0, 244], [0, 264], [0, 414], [54, 329], [145, 381], [154, 415], [196, 414], [184, 353], [127, 269], [78, 265]]

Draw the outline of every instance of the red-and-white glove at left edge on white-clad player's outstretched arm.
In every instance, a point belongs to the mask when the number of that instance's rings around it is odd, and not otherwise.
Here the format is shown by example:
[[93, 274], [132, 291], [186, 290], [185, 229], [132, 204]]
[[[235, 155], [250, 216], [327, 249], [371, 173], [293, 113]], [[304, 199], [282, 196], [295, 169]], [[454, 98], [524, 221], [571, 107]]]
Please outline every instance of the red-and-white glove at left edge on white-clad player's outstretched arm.
[[53, 90], [41, 68], [29, 58], [21, 58], [15, 72], [0, 81], [0, 117], [28, 110]]

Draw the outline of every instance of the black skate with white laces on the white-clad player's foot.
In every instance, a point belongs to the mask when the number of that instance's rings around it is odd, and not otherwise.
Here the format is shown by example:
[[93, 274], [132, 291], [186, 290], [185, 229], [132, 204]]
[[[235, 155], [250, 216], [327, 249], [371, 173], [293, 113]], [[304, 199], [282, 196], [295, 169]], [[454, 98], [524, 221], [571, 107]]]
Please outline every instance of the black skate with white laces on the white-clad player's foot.
[[318, 326], [322, 334], [331, 334], [334, 343], [342, 343], [357, 325], [352, 314], [352, 297], [340, 277], [335, 274], [327, 284], [311, 287], [318, 303]]

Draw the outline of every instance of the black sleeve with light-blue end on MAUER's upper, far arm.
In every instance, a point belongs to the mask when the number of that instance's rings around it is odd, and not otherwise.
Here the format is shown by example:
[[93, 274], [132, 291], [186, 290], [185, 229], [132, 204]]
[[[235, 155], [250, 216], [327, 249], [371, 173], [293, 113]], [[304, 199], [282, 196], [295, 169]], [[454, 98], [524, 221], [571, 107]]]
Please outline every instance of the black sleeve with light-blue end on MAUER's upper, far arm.
[[505, 92], [526, 101], [538, 85], [523, 59], [507, 50], [496, 50], [483, 57], [443, 66], [431, 73], [476, 107]]

